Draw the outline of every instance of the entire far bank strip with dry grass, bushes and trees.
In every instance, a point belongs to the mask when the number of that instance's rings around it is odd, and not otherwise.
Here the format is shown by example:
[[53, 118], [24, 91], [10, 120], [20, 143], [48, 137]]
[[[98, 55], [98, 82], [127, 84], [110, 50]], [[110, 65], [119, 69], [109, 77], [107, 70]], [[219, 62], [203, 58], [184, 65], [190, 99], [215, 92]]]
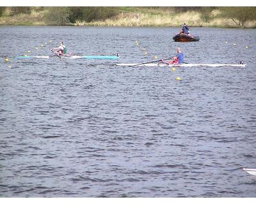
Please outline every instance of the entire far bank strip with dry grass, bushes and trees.
[[256, 7], [0, 7], [0, 25], [256, 27]]

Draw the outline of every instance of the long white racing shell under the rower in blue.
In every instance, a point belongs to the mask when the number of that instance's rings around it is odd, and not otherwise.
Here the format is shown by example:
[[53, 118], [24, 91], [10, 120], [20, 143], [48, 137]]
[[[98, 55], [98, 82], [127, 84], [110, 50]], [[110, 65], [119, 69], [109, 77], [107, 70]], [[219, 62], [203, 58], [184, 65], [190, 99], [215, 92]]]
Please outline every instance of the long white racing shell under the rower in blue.
[[193, 66], [209, 66], [209, 67], [219, 67], [219, 66], [234, 66], [244, 68], [246, 64], [163, 64], [163, 63], [150, 63], [150, 64], [116, 64], [117, 66], [164, 66], [164, 67], [193, 67]]

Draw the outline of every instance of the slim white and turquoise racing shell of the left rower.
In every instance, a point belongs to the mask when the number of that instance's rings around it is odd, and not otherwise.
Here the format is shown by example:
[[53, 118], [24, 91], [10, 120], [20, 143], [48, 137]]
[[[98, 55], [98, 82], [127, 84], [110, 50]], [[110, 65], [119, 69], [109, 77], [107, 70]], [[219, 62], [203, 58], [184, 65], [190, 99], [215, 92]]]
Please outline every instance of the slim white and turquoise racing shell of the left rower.
[[[49, 59], [50, 56], [17, 56], [15, 58], [18, 59]], [[55, 57], [54, 57], [55, 58]], [[92, 55], [92, 56], [78, 56], [78, 55], [71, 55], [71, 56], [61, 56], [61, 58], [65, 59], [118, 59], [119, 56], [116, 55]]]

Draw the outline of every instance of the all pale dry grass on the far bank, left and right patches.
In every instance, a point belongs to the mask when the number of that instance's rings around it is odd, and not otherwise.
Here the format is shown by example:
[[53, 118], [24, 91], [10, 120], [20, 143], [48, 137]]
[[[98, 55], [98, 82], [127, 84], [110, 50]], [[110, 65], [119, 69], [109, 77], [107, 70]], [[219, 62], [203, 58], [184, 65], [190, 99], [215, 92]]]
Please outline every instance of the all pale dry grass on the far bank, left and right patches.
[[[45, 17], [47, 9], [32, 11], [30, 15], [20, 14], [14, 17], [0, 17], [0, 25], [56, 25]], [[238, 27], [231, 19], [220, 18], [220, 10], [211, 11], [211, 18], [205, 22], [199, 11], [177, 13], [167, 8], [126, 8], [116, 17], [94, 22], [77, 21], [73, 25], [92, 26], [181, 26], [186, 22], [189, 26], [204, 27]], [[248, 21], [245, 27], [256, 27], [256, 21]]]

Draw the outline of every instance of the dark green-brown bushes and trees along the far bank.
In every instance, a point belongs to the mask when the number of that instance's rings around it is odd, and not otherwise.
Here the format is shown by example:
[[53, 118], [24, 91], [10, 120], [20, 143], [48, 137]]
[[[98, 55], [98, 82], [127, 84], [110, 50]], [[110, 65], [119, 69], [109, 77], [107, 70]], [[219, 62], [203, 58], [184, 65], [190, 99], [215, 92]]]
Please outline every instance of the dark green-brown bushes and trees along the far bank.
[[[127, 7], [126, 7], [127, 8]], [[136, 7], [133, 7], [136, 8]], [[256, 20], [256, 7], [201, 7], [201, 6], [185, 6], [185, 7], [142, 7], [161, 10], [172, 10], [175, 13], [186, 11], [198, 11], [204, 22], [209, 22], [213, 18], [211, 11], [220, 10], [218, 17], [230, 18], [235, 24], [243, 26], [248, 20]], [[7, 16], [15, 16], [19, 14], [31, 14], [31, 12], [46, 10], [45, 19], [56, 25], [69, 25], [77, 21], [93, 22], [95, 20], [106, 20], [107, 18], [116, 17], [125, 7], [28, 7], [28, 6], [12, 6], [0, 7], [0, 17], [7, 13]], [[130, 8], [132, 10], [132, 7]], [[6, 12], [8, 11], [8, 12]]]

